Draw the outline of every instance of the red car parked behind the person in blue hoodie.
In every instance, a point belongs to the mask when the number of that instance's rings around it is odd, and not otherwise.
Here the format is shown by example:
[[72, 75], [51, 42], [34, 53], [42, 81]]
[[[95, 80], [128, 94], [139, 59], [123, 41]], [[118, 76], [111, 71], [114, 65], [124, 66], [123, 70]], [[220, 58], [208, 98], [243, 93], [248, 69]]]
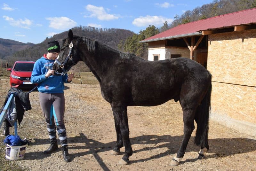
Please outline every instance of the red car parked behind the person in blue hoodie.
[[11, 71], [11, 87], [15, 87], [17, 89], [34, 88], [36, 84], [32, 84], [30, 82], [34, 64], [34, 61], [16, 61], [12, 68], [8, 68], [7, 71]]

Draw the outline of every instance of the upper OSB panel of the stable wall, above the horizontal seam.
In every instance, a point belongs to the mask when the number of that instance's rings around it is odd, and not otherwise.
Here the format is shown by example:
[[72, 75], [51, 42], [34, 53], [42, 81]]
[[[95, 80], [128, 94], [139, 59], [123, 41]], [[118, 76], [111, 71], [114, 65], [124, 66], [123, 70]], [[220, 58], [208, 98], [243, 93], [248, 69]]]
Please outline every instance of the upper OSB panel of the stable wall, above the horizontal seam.
[[256, 86], [256, 29], [209, 35], [212, 80]]

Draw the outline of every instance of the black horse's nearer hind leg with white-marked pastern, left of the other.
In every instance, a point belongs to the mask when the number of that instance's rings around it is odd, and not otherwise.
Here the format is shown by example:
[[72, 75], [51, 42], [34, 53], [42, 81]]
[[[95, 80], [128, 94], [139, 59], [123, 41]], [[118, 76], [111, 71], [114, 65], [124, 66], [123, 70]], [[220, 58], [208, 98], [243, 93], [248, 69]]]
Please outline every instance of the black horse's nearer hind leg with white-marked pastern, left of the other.
[[188, 145], [188, 141], [191, 137], [193, 130], [195, 129], [195, 125], [194, 125], [195, 110], [190, 108], [186, 108], [186, 109], [182, 108], [182, 110], [183, 110], [183, 122], [184, 122], [184, 129], [183, 129], [184, 137], [176, 157], [174, 157], [170, 163], [171, 166], [177, 166], [180, 164], [180, 159], [184, 156], [187, 145]]

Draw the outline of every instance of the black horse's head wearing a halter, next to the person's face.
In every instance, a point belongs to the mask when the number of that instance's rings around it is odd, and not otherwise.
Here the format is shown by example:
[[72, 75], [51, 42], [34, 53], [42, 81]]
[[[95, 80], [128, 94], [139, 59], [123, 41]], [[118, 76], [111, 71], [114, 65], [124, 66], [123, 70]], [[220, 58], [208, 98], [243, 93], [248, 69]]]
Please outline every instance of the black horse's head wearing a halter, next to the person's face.
[[68, 38], [63, 40], [60, 55], [53, 64], [55, 74], [65, 75], [68, 70], [79, 61], [76, 52], [77, 48], [73, 45], [75, 42], [76, 40], [73, 38], [73, 32], [72, 30], [69, 30]]

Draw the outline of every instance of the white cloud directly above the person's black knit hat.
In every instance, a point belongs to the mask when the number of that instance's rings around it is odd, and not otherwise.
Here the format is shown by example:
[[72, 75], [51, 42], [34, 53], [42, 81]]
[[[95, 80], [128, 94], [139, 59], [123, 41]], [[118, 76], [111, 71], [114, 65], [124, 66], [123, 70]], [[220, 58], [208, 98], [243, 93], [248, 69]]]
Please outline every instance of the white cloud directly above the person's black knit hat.
[[57, 30], [66, 30], [76, 26], [76, 22], [67, 17], [49, 17], [46, 19], [50, 20], [49, 27]]

